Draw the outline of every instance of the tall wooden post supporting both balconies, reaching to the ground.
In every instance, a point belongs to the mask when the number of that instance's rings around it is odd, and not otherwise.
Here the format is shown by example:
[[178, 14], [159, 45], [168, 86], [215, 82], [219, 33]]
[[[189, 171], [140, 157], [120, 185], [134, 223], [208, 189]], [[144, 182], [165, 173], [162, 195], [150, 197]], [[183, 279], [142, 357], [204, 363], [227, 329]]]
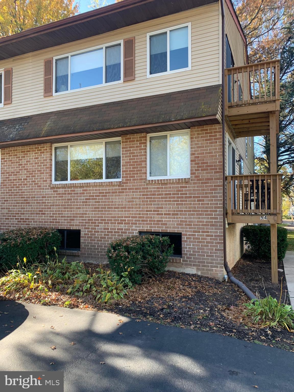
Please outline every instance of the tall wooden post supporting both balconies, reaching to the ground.
[[[270, 113], [270, 173], [275, 174], [277, 172], [277, 123], [276, 113]], [[272, 192], [272, 208], [276, 210], [278, 208], [277, 203], [277, 192], [278, 192], [278, 181], [272, 178], [271, 192]], [[270, 247], [271, 247], [271, 259], [272, 259], [272, 283], [278, 283], [278, 239], [277, 239], [277, 225], [270, 225]]]

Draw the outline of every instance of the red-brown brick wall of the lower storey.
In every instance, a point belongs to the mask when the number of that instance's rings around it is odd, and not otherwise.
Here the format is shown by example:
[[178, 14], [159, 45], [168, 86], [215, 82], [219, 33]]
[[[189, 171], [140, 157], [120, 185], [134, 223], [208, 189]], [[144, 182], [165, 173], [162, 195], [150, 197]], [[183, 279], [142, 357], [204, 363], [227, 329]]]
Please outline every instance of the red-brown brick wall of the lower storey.
[[138, 231], [182, 233], [172, 267], [223, 276], [221, 125], [191, 129], [191, 179], [146, 180], [146, 134], [122, 137], [122, 181], [52, 184], [52, 145], [1, 150], [0, 230], [81, 230], [81, 256]]

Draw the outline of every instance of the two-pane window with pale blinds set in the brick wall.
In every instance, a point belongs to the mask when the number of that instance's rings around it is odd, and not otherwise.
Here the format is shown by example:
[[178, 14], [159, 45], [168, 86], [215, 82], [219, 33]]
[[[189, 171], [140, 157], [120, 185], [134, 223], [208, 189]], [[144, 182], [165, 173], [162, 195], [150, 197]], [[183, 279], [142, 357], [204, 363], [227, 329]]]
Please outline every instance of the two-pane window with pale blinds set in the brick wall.
[[190, 177], [190, 131], [148, 135], [148, 178]]

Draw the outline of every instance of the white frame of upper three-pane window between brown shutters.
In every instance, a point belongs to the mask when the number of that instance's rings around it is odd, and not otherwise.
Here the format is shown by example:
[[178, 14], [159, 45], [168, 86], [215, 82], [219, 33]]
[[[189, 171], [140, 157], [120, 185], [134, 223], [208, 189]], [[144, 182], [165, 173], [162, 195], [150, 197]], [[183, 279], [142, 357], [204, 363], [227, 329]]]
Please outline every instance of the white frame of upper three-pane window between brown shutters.
[[[111, 47], [114, 45], [118, 45], [120, 44], [120, 80], [116, 80], [115, 82], [109, 82], [106, 83], [105, 82], [105, 48], [107, 47]], [[88, 87], [82, 87], [81, 89], [74, 89], [71, 90], [71, 56], [74, 56], [75, 54], [81, 54], [81, 53], [87, 53], [87, 52], [91, 52], [94, 51], [96, 49], [103, 49], [103, 83], [101, 84], [95, 84], [93, 86], [88, 86]], [[56, 76], [55, 76], [55, 72], [56, 72], [56, 60], [59, 60], [61, 58], [66, 58], [68, 57], [68, 90], [67, 91], [60, 91], [59, 93], [55, 93], [55, 87], [56, 87]], [[83, 90], [89, 90], [89, 89], [95, 89], [98, 87], [102, 87], [105, 85], [113, 85], [113, 84], [118, 84], [118, 83], [123, 83], [123, 40], [120, 41], [115, 41], [115, 42], [110, 42], [109, 44], [103, 44], [103, 45], [99, 45], [99, 46], [94, 46], [91, 48], [87, 48], [87, 49], [83, 49], [80, 51], [76, 51], [76, 52], [71, 52], [71, 53], [65, 53], [65, 54], [61, 54], [60, 56], [55, 56], [53, 57], [53, 95], [61, 95], [61, 94], [68, 94], [68, 93], [74, 93], [75, 91], [83, 91]]]

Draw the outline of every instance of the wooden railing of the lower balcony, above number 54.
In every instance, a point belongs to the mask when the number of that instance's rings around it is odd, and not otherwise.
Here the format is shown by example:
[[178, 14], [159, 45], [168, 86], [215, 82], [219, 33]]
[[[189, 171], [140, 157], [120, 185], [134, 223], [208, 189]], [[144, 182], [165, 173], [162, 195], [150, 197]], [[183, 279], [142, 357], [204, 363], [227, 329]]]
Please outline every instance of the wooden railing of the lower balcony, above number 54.
[[282, 174], [227, 176], [227, 216], [280, 214]]

